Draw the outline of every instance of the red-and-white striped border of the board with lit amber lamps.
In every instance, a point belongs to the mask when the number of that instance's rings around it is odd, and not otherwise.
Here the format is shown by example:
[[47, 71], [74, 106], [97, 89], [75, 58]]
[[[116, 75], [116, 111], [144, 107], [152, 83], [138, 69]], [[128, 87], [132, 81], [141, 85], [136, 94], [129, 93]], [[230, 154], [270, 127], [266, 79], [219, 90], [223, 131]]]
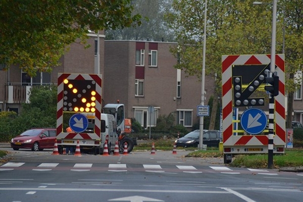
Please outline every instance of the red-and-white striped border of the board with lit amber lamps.
[[[63, 89], [65, 79], [68, 80], [93, 80], [95, 86], [95, 125], [94, 133], [66, 133], [63, 132]], [[102, 108], [102, 76], [98, 74], [58, 74], [58, 98], [57, 98], [57, 139], [100, 139], [101, 108]]]

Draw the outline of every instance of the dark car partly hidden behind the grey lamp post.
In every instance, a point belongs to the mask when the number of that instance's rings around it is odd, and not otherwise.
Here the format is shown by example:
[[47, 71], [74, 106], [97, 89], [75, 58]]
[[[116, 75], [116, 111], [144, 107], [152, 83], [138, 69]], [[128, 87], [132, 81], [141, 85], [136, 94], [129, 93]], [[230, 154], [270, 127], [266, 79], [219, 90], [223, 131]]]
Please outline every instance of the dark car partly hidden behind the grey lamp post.
[[[194, 130], [175, 141], [176, 146], [181, 147], [197, 147], [199, 144], [200, 130]], [[203, 144], [209, 147], [219, 147], [220, 131], [219, 130], [203, 130]]]

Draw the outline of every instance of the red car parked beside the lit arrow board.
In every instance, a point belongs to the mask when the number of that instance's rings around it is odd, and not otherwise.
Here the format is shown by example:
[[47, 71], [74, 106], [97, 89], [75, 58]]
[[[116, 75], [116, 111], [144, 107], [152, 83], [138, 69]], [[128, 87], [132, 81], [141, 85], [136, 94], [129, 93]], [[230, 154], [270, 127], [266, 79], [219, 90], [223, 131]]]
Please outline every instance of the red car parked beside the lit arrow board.
[[23, 132], [11, 140], [14, 150], [30, 148], [33, 151], [44, 148], [54, 148], [56, 139], [56, 128], [35, 128]]

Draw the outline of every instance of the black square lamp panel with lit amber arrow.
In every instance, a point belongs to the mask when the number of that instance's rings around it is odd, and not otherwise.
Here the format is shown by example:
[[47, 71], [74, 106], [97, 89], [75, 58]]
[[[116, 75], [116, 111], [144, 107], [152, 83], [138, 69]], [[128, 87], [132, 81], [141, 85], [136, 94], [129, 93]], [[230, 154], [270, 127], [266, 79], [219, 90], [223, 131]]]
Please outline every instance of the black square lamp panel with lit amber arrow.
[[95, 81], [64, 80], [63, 111], [95, 112]]

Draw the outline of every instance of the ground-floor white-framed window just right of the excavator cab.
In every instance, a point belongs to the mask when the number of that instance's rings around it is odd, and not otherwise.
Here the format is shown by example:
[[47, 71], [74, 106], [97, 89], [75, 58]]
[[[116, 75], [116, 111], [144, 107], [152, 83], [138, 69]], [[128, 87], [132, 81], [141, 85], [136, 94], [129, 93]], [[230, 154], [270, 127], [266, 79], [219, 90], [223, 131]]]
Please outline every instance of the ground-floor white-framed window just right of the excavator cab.
[[153, 113], [148, 112], [148, 108], [135, 108], [135, 119], [143, 128], [155, 127], [157, 125], [158, 109], [155, 108]]

